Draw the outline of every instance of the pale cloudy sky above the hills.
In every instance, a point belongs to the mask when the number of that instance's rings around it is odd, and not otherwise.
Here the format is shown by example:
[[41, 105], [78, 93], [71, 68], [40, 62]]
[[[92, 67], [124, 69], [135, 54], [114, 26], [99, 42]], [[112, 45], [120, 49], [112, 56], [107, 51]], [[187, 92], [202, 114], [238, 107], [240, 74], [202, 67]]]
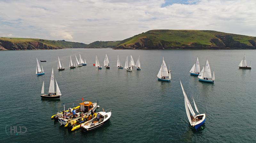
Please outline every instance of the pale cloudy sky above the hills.
[[256, 36], [256, 0], [0, 0], [0, 36], [89, 44], [153, 29]]

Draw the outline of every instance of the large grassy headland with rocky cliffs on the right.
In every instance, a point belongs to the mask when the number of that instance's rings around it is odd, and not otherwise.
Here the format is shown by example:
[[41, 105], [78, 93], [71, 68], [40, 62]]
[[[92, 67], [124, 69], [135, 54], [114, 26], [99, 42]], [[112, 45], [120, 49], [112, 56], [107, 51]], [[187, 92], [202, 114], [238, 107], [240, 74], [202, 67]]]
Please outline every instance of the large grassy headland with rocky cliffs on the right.
[[210, 30], [150, 30], [118, 43], [116, 49], [255, 49], [256, 37]]

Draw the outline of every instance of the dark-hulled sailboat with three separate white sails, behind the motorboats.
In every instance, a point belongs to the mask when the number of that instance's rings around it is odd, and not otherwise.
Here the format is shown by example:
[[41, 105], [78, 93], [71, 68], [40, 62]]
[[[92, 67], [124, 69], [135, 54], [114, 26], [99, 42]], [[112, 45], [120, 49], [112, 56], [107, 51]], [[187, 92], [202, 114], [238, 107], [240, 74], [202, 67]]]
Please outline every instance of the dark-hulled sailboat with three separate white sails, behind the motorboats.
[[49, 94], [44, 94], [44, 82], [43, 82], [43, 86], [42, 86], [42, 90], [41, 90], [41, 97], [42, 98], [48, 98], [48, 99], [60, 99], [61, 93], [60, 93], [60, 89], [58, 86], [58, 83], [55, 79], [56, 82], [56, 92], [54, 90], [54, 74], [53, 74], [53, 68], [52, 68], [52, 76], [50, 79], [50, 86], [49, 86]]

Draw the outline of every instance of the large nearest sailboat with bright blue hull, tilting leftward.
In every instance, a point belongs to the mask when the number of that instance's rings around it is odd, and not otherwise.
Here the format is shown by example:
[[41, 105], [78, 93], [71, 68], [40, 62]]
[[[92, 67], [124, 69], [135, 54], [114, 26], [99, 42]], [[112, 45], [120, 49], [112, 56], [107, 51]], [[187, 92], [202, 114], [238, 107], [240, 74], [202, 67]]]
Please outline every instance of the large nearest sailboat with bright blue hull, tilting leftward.
[[[184, 95], [185, 109], [186, 109], [188, 121], [189, 121], [190, 125], [197, 130], [201, 125], [204, 124], [204, 122], [205, 122], [205, 114], [196, 115], [196, 113], [194, 112], [190, 102], [188, 101], [187, 94], [186, 94], [186, 92], [185, 92], [185, 90], [183, 88], [183, 85], [182, 85], [181, 81], [180, 81], [180, 85], [181, 85], [181, 89], [182, 89], [182, 92], [183, 92], [183, 95]], [[198, 108], [196, 106], [196, 102], [195, 102], [193, 97], [192, 97], [192, 99], [193, 99], [193, 102], [194, 102], [194, 106], [195, 106], [196, 112], [199, 113]], [[190, 115], [190, 113], [192, 115]]]

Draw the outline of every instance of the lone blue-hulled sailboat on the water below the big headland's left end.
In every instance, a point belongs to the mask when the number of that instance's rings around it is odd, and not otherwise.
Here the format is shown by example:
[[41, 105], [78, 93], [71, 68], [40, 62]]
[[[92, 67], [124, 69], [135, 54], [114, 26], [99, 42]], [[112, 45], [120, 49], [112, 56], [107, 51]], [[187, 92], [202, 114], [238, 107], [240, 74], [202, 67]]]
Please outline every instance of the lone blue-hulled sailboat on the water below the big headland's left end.
[[[168, 78], [166, 78], [167, 76], [169, 76]], [[170, 82], [171, 81], [171, 72], [168, 73], [168, 69], [167, 69], [167, 66], [165, 64], [165, 61], [164, 61], [164, 57], [163, 57], [163, 61], [162, 61], [162, 64], [161, 64], [161, 68], [157, 74], [157, 79], [159, 81], [165, 81], [165, 82]]]

